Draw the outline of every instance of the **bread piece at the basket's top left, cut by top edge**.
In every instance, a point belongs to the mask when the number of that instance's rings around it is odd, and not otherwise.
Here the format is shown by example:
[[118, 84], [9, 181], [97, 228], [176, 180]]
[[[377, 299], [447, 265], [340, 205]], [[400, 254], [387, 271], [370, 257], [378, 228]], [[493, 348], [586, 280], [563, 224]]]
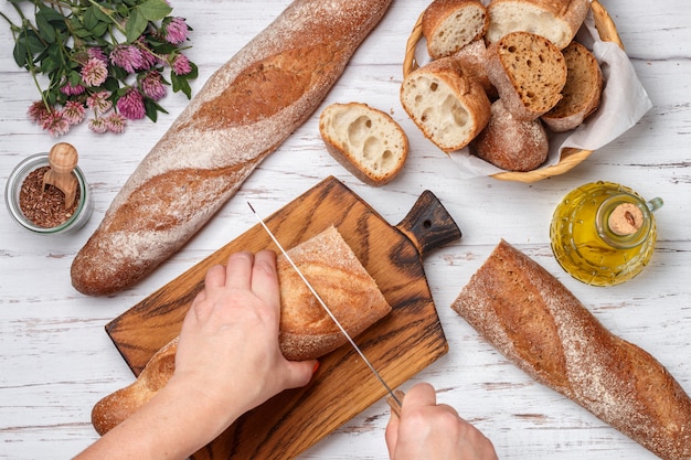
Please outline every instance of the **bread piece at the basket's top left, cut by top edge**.
[[427, 52], [435, 60], [481, 39], [488, 25], [487, 8], [479, 0], [434, 0], [422, 19]]

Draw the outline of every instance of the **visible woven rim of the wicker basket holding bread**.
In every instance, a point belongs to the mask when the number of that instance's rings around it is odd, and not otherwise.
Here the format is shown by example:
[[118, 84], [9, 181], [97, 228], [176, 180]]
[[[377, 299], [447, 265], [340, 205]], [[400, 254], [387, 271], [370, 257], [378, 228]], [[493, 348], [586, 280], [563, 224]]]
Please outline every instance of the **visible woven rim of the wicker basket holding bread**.
[[[605, 10], [605, 8], [599, 3], [598, 0], [593, 0], [591, 2], [591, 9], [593, 10], [595, 28], [597, 29], [600, 39], [605, 42], [614, 42], [619, 45], [621, 50], [624, 50], [624, 44], [621, 43], [621, 40], [617, 34], [617, 28], [609, 17], [609, 13], [607, 13], [607, 10]], [[417, 18], [417, 22], [415, 23], [413, 32], [411, 33], [411, 36], [407, 41], [407, 45], [405, 49], [405, 58], [403, 61], [404, 77], [419, 67], [417, 61], [415, 60], [415, 49], [417, 46], [417, 42], [423, 36], [422, 19], [423, 14]], [[559, 163], [556, 164], [539, 168], [536, 170], [528, 172], [498, 172], [496, 174], [492, 174], [492, 178], [500, 179], [502, 181], [538, 182], [552, 175], [565, 173], [566, 171], [571, 170], [576, 164], [588, 158], [591, 153], [593, 153], [592, 150], [566, 148], [562, 152]]]

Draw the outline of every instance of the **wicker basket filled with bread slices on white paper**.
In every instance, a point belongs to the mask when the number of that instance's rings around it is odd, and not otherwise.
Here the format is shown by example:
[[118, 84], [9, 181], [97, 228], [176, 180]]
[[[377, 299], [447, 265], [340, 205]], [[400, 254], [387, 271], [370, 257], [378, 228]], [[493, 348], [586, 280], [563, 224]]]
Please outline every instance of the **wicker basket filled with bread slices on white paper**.
[[403, 76], [405, 111], [467, 176], [562, 174], [651, 107], [597, 0], [433, 0]]

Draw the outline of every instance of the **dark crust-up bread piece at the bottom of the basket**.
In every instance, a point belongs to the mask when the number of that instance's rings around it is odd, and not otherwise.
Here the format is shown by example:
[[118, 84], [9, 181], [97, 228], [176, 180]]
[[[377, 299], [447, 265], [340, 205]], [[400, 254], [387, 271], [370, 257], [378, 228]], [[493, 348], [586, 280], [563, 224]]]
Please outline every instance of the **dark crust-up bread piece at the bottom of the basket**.
[[540, 119], [517, 120], [501, 99], [492, 104], [487, 128], [470, 146], [479, 158], [507, 171], [532, 171], [544, 163], [550, 151]]

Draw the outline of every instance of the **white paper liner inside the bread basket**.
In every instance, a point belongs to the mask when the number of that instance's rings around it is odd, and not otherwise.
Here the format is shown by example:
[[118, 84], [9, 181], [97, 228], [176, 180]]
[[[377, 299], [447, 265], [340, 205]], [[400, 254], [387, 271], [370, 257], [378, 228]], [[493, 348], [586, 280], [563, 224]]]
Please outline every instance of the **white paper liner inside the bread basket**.
[[[636, 75], [626, 53], [613, 42], [600, 40], [593, 11], [589, 10], [576, 40], [593, 52], [599, 62], [605, 78], [605, 87], [598, 109], [578, 128], [561, 133], [550, 132], [550, 152], [540, 169], [556, 164], [565, 148], [597, 150], [612, 142], [631, 128], [650, 110], [652, 103]], [[429, 57], [423, 38], [416, 47], [416, 55]], [[418, 61], [421, 66], [424, 60]], [[549, 132], [549, 131], [548, 131]], [[449, 152], [460, 179], [492, 175], [506, 172], [470, 153], [469, 148]]]

